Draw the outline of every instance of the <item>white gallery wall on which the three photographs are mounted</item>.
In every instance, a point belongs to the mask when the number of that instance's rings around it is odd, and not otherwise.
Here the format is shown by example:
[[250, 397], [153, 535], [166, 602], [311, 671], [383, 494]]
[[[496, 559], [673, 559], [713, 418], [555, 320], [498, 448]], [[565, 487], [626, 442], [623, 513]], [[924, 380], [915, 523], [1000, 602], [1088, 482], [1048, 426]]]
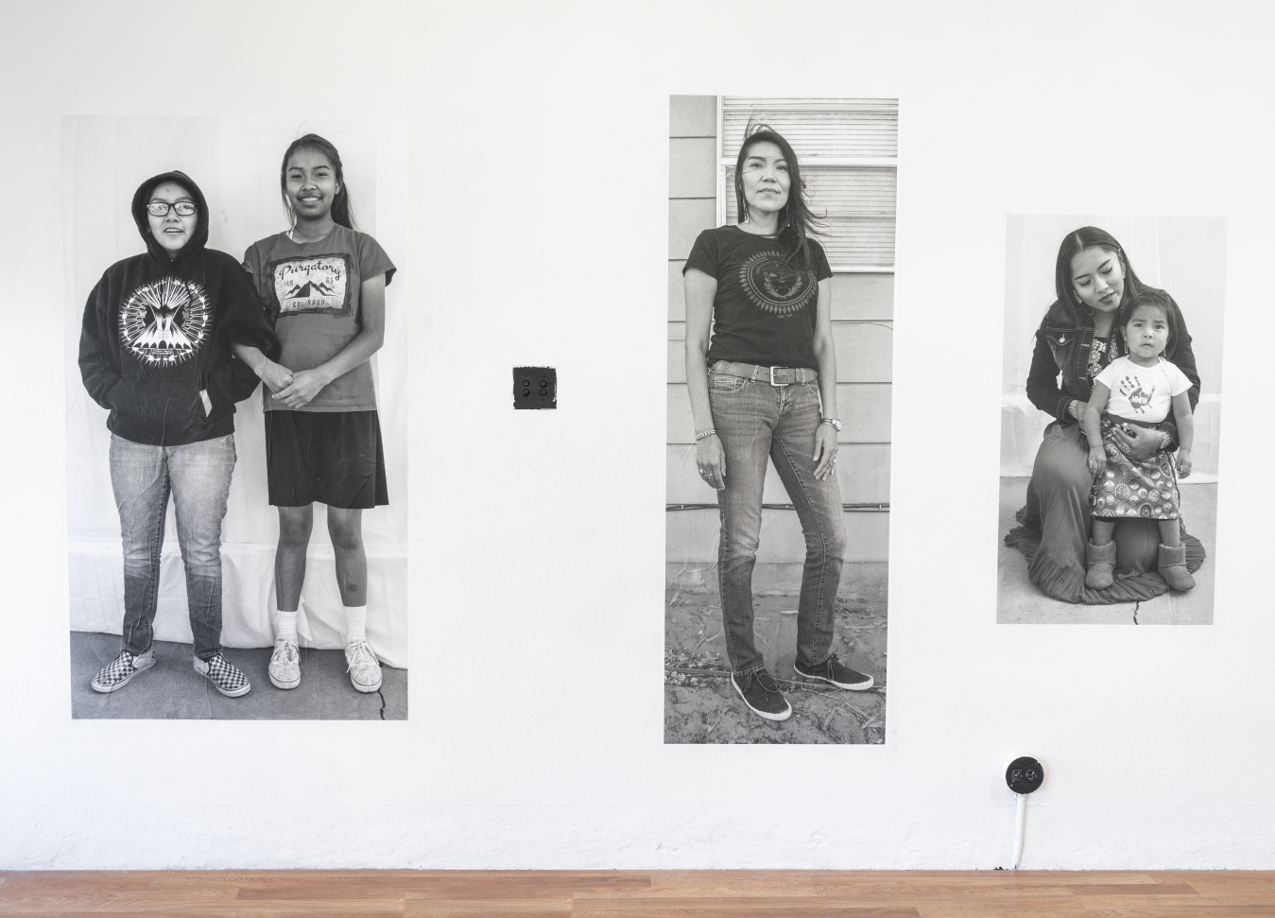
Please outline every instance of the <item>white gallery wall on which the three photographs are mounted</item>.
[[[991, 868], [1024, 754], [1024, 867], [1275, 867], [1272, 19], [9, 10], [0, 868]], [[662, 742], [669, 93], [900, 99], [880, 747]], [[65, 115], [407, 119], [409, 720], [70, 719]], [[1225, 218], [1213, 626], [994, 623], [1009, 214]], [[556, 411], [511, 409], [519, 365]]]

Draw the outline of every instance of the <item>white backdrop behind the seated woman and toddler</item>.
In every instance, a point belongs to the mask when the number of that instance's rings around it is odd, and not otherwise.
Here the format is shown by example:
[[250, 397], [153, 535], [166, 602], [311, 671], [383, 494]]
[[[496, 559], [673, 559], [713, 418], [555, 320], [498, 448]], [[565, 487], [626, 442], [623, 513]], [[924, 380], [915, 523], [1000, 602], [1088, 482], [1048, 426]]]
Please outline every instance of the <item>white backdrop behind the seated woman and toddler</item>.
[[1005, 256], [1005, 376], [1001, 381], [1001, 474], [1030, 476], [1052, 418], [1026, 397], [1035, 330], [1054, 300], [1058, 245], [1096, 226], [1123, 246], [1137, 277], [1169, 292], [1186, 317], [1200, 370], [1195, 470], [1218, 479], [1221, 427], [1221, 324], [1227, 287], [1227, 221], [1220, 217], [1011, 215]]

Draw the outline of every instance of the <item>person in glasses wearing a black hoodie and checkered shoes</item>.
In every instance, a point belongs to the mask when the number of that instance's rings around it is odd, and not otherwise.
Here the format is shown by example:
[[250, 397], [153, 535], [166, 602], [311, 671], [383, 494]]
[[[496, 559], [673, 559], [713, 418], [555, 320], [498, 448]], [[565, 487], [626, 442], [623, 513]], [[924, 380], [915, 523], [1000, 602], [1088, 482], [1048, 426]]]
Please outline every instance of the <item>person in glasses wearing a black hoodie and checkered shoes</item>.
[[189, 176], [143, 182], [133, 219], [147, 252], [107, 269], [80, 334], [84, 388], [111, 412], [111, 487], [124, 539], [124, 648], [92, 685], [116, 691], [154, 666], [171, 492], [195, 671], [235, 697], [251, 686], [222, 657], [222, 518], [235, 468], [235, 403], [258, 379], [231, 344], [275, 353], [279, 344], [238, 261], [205, 249], [208, 205]]

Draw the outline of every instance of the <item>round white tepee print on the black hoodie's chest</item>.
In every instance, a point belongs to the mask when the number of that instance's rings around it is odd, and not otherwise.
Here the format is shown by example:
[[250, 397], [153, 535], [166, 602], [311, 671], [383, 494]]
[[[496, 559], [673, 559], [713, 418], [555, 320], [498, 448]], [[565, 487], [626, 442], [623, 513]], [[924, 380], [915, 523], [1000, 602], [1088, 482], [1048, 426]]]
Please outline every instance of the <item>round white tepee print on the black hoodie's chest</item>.
[[133, 291], [120, 307], [120, 344], [145, 366], [175, 366], [208, 339], [213, 311], [196, 283], [163, 278]]

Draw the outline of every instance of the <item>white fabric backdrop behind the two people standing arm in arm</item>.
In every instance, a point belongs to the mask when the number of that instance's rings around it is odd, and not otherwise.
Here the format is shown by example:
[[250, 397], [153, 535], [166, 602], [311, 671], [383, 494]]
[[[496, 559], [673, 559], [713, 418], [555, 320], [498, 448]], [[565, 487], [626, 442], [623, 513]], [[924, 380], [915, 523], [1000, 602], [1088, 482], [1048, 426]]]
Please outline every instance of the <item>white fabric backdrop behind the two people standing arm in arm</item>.
[[[374, 357], [390, 505], [363, 513], [372, 648], [405, 667], [407, 627], [407, 126], [391, 120], [69, 116], [62, 121], [62, 215], [66, 374], [66, 487], [70, 627], [120, 634], [124, 571], [119, 515], [107, 464], [106, 411], [84, 391], [76, 354], [84, 302], [107, 266], [143, 251], [129, 213], [138, 185], [181, 170], [203, 189], [210, 210], [208, 246], [242, 259], [254, 241], [287, 228], [279, 166], [287, 145], [320, 134], [340, 153], [354, 221], [398, 266], [386, 289], [385, 347]], [[377, 178], [381, 181], [377, 181]], [[222, 528], [222, 641], [273, 644], [274, 544], [278, 515], [266, 502], [260, 390], [235, 419], [238, 462]], [[323, 505], [315, 511], [301, 640], [343, 645], [332, 542]], [[159, 640], [190, 641], [186, 588], [173, 515], [168, 514], [161, 575]]]

